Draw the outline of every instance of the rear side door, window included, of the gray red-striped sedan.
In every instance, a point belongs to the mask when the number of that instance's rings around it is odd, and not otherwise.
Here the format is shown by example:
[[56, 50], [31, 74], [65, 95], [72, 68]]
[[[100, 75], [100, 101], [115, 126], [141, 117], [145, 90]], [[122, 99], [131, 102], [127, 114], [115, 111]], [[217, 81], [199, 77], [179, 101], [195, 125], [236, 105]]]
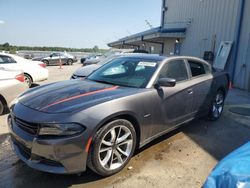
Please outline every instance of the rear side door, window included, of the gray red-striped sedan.
[[208, 63], [196, 59], [187, 59], [191, 80], [193, 83], [194, 104], [193, 111], [195, 116], [207, 112], [212, 99], [213, 76], [211, 66]]

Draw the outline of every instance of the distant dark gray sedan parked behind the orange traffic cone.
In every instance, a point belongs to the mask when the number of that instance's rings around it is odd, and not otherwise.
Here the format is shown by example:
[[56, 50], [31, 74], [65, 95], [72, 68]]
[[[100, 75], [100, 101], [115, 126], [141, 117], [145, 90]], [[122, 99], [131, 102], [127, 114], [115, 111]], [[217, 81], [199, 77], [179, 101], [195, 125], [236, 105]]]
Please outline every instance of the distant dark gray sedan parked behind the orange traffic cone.
[[77, 58], [67, 52], [54, 52], [48, 57], [34, 58], [33, 60], [42, 61], [47, 66], [60, 65], [60, 60], [63, 65], [73, 65], [73, 63], [77, 62]]

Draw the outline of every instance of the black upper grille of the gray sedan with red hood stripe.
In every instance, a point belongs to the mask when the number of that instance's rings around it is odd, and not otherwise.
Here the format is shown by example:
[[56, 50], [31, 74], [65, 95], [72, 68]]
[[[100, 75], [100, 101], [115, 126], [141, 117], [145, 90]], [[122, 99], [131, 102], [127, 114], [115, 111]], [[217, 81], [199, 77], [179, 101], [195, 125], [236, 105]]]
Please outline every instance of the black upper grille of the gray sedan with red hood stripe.
[[22, 130], [24, 130], [25, 132], [31, 134], [31, 135], [37, 135], [38, 133], [38, 129], [39, 129], [39, 125], [36, 123], [29, 123], [26, 122], [24, 120], [21, 120], [19, 118], [13, 117], [12, 121], [15, 122], [15, 124], [21, 128]]

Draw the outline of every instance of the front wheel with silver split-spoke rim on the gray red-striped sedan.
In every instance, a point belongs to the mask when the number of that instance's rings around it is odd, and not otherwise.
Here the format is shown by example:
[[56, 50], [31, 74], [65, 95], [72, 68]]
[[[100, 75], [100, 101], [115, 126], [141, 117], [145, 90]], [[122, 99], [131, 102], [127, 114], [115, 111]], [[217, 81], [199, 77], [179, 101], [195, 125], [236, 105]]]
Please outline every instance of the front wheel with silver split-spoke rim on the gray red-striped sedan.
[[101, 176], [121, 171], [134, 154], [136, 132], [125, 120], [114, 120], [99, 129], [93, 138], [88, 167]]

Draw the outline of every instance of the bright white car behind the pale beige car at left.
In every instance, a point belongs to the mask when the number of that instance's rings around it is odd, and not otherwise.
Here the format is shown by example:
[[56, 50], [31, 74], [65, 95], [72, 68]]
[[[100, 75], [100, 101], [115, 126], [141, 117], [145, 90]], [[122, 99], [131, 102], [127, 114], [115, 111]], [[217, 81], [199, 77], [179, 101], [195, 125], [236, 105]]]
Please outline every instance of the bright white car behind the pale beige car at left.
[[49, 72], [41, 61], [31, 61], [17, 55], [0, 53], [0, 67], [24, 72], [25, 83], [30, 87], [32, 83], [48, 79]]

